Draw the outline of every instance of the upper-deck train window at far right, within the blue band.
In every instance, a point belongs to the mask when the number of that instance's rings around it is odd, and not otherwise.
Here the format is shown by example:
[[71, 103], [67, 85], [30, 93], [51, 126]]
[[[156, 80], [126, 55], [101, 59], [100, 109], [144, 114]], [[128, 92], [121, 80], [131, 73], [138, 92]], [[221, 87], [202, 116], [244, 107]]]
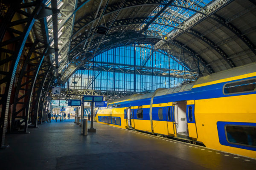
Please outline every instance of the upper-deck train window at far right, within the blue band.
[[252, 92], [256, 90], [256, 79], [227, 83], [223, 87], [224, 94]]

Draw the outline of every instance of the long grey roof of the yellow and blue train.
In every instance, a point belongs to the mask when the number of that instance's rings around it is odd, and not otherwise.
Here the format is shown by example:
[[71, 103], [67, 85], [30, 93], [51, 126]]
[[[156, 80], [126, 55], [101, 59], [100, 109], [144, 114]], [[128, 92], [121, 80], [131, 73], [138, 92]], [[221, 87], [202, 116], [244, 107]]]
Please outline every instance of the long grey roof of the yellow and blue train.
[[[126, 97], [120, 98], [120, 99], [111, 100], [108, 104], [125, 102], [125, 101], [129, 101], [129, 100], [133, 101], [133, 100], [147, 99], [147, 98], [151, 98], [152, 96], [163, 96], [166, 94], [174, 94], [174, 93], [178, 93], [178, 92], [189, 91], [192, 88], [207, 85], [205, 83], [215, 82], [215, 81], [216, 81], [216, 83], [218, 83], [218, 80], [221, 80], [221, 79], [227, 79], [230, 77], [236, 77], [236, 76], [250, 74], [250, 73], [254, 73], [254, 72], [256, 72], [256, 62], [248, 64], [248, 65], [239, 66], [236, 68], [231, 68], [226, 71], [220, 71], [218, 73], [213, 73], [213, 74], [210, 74], [210, 75], [207, 75], [204, 77], [200, 77], [196, 82], [191, 82], [191, 83], [188, 83], [185, 85], [180, 85], [180, 86], [173, 87], [173, 88], [159, 88], [152, 93], [134, 94], [131, 96], [126, 96]], [[229, 81], [229, 80], [227, 80], [227, 81]], [[215, 84], [215, 83], [212, 83], [212, 84]]]

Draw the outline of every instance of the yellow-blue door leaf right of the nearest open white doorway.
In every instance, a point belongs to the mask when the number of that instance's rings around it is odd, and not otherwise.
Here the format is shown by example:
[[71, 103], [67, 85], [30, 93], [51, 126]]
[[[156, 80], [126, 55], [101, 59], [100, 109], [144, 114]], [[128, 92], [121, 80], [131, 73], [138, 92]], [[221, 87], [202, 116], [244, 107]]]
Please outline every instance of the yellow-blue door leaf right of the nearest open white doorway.
[[186, 104], [186, 117], [189, 130], [189, 137], [198, 138], [195, 124], [195, 100], [188, 100]]

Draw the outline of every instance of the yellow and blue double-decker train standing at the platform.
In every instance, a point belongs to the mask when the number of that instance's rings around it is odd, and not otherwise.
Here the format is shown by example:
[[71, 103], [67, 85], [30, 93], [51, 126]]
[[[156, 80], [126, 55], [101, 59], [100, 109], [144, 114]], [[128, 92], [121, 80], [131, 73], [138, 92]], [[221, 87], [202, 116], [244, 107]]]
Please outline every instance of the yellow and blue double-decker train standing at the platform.
[[112, 100], [96, 121], [256, 158], [256, 63]]

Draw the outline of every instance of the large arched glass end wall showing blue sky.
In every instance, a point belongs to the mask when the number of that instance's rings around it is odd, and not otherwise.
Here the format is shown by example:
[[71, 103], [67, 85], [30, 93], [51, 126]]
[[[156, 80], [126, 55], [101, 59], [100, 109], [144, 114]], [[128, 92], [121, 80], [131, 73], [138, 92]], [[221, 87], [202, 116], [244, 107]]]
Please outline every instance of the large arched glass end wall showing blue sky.
[[152, 51], [150, 45], [131, 45], [94, 57], [62, 88], [152, 92], [180, 85], [188, 74], [174, 57]]

